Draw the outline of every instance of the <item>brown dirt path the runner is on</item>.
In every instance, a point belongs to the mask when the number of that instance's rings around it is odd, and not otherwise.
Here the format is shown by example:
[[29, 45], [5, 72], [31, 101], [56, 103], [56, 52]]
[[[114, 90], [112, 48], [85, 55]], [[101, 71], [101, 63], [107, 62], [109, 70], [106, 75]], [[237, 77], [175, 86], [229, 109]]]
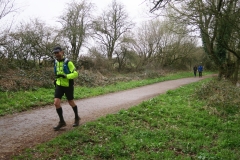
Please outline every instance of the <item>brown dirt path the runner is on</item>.
[[[205, 78], [205, 77], [203, 77]], [[144, 87], [117, 93], [76, 100], [81, 124], [93, 121], [101, 116], [127, 109], [144, 100], [155, 97], [167, 90], [199, 81], [203, 78], [184, 78], [156, 83]], [[22, 149], [46, 142], [57, 135], [72, 129], [74, 114], [71, 107], [62, 104], [63, 115], [67, 127], [60, 131], [52, 129], [58, 123], [58, 116], [53, 105], [26, 111], [0, 118], [0, 159], [8, 159], [10, 155]]]

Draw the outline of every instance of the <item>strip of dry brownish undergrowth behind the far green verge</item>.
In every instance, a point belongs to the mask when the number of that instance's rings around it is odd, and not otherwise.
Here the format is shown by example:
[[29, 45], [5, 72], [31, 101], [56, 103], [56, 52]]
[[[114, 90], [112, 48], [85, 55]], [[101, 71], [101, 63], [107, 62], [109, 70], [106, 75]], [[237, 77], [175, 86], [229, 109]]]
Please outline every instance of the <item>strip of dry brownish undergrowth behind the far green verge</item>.
[[[127, 82], [146, 78], [156, 78], [169, 71], [142, 71], [132, 73], [119, 73], [115, 71], [100, 72], [97, 70], [79, 70], [75, 85], [96, 87]], [[36, 90], [38, 88], [53, 87], [54, 73], [52, 67], [32, 69], [8, 69], [0, 72], [0, 91]]]

